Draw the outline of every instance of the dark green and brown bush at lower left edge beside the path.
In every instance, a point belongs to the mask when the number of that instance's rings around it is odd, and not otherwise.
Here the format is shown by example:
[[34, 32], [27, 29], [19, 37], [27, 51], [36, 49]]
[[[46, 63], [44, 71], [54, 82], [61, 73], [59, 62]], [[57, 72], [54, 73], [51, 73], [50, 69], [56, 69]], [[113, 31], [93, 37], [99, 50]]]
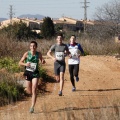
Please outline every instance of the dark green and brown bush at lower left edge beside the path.
[[24, 87], [9, 73], [0, 73], [0, 106], [16, 102], [25, 95]]

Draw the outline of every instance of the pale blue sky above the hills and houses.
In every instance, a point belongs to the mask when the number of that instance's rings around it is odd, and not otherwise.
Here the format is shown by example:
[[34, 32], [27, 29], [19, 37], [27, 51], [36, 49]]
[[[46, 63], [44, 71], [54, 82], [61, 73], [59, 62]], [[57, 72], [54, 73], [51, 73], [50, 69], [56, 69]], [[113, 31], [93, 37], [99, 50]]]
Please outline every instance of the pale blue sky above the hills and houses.
[[[94, 19], [97, 7], [114, 0], [87, 0], [87, 19]], [[51, 18], [62, 16], [84, 19], [84, 0], [0, 0], [0, 18], [9, 18], [10, 5], [13, 17], [22, 14], [40, 14]]]

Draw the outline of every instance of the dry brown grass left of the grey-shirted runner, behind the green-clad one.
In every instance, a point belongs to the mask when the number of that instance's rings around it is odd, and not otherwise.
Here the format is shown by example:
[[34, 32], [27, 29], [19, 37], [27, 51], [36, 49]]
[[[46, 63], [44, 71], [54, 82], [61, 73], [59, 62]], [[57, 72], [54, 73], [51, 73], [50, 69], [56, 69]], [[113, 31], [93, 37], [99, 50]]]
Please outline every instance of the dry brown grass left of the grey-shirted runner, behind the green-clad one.
[[[29, 41], [17, 41], [8, 39], [5, 36], [0, 35], [0, 57], [12, 57], [19, 58], [23, 55], [24, 52], [29, 50]], [[46, 55], [48, 49], [53, 44], [52, 40], [36, 40], [38, 43], [38, 51], [41, 51], [43, 55]]]

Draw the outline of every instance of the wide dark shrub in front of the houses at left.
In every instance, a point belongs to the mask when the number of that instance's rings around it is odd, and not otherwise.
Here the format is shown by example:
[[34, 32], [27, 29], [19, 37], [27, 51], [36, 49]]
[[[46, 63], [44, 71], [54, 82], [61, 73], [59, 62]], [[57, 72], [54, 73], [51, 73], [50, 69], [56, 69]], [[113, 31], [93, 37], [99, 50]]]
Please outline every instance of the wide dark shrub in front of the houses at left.
[[8, 38], [14, 38], [17, 40], [37, 38], [39, 35], [36, 32], [33, 32], [30, 27], [27, 26], [24, 22], [15, 22], [13, 25], [9, 24], [7, 27], [4, 27], [0, 30], [1, 34], [6, 34]]

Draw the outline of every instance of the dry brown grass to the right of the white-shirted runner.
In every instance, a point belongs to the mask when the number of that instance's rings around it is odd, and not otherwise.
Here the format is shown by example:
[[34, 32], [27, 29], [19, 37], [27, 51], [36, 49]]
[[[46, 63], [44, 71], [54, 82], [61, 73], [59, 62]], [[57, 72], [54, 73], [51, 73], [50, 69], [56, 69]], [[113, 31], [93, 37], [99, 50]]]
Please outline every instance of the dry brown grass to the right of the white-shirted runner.
[[115, 55], [119, 53], [120, 44], [111, 40], [94, 40], [94, 39], [85, 39], [78, 40], [84, 50], [89, 55]]

